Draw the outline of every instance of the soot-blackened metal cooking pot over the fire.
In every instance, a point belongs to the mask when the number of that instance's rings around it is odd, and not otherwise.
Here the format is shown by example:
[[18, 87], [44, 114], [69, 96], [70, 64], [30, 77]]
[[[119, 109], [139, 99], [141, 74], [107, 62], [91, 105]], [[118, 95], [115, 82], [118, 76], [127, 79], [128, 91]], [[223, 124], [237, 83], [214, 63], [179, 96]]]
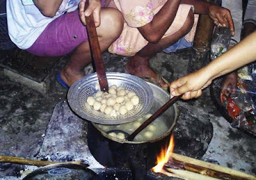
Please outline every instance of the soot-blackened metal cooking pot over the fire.
[[[149, 113], [154, 114], [170, 95], [160, 87], [148, 82], [154, 92], [154, 101]], [[97, 123], [88, 124], [88, 146], [94, 158], [106, 167], [129, 167], [136, 169], [135, 173], [150, 169], [156, 165], [156, 156], [161, 147], [170, 140], [171, 131], [180, 111], [174, 104], [161, 117], [168, 126], [168, 130], [154, 139], [145, 141], [127, 141], [111, 137], [99, 128]], [[132, 172], [134, 174], [134, 172]]]

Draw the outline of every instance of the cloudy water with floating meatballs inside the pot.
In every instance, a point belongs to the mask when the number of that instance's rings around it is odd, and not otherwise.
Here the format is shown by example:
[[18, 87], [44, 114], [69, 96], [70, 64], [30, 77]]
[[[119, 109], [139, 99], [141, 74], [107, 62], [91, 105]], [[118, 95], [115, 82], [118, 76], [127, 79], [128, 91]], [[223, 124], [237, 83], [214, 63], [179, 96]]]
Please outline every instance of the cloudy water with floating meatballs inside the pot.
[[[123, 130], [131, 135], [142, 123], [144, 123], [152, 114], [147, 114], [136, 121], [131, 123], [118, 124], [118, 125], [104, 125], [99, 124], [100, 130], [107, 132], [110, 130]], [[163, 117], [159, 116], [152, 123], [150, 123], [144, 130], [142, 130], [134, 141], [152, 140], [160, 135], [163, 135], [168, 130], [168, 127], [164, 123]]]

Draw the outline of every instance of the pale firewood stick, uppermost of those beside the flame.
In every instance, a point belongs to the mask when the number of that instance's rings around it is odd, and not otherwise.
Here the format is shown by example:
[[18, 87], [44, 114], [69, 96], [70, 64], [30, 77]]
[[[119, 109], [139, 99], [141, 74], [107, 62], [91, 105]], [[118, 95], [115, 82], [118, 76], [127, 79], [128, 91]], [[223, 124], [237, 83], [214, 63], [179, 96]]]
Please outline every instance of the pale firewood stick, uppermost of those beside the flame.
[[[254, 180], [256, 180], [256, 177], [252, 176], [250, 174], [245, 174], [244, 172], [240, 172], [238, 170], [230, 169], [228, 167], [223, 167], [221, 165], [215, 165], [213, 163], [208, 163], [208, 162], [205, 162], [205, 161], [196, 160], [195, 158], [189, 158], [187, 156], [182, 156], [180, 154], [172, 153], [172, 158], [174, 160], [183, 162], [184, 165], [185, 165], [185, 168], [186, 168], [186, 165], [187, 165], [187, 168], [189, 168], [188, 164], [190, 164], [192, 166], [194, 165], [194, 169], [195, 169], [195, 166], [198, 166], [198, 167], [203, 167], [205, 169], [214, 170], [214, 172], [222, 172], [223, 174], [228, 174], [228, 175], [230, 175], [230, 177], [235, 177], [236, 179], [254, 179]], [[189, 169], [189, 170], [192, 170], [192, 169]], [[205, 172], [202, 171], [202, 173], [205, 173]]]

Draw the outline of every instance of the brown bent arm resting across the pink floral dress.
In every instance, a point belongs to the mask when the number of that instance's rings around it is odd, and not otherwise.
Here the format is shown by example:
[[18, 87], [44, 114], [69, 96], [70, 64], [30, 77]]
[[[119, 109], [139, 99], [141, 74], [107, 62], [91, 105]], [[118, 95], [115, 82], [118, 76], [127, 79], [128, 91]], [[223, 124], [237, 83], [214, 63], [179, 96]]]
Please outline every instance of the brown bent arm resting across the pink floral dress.
[[[179, 8], [180, 0], [168, 0], [154, 15], [153, 20], [138, 27], [141, 35], [150, 43], [157, 43], [171, 26]], [[160, 28], [161, 27], [161, 28]]]

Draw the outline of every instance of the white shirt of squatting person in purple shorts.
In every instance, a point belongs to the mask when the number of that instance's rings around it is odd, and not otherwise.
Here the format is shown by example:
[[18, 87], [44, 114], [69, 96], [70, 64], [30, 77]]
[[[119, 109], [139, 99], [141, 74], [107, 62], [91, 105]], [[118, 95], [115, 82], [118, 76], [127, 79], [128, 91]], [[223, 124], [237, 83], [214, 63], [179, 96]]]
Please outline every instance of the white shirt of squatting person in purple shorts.
[[33, 0], [7, 0], [6, 14], [10, 39], [20, 49], [33, 45], [45, 27], [64, 12], [77, 9], [80, 0], [63, 0], [54, 17], [45, 17]]

